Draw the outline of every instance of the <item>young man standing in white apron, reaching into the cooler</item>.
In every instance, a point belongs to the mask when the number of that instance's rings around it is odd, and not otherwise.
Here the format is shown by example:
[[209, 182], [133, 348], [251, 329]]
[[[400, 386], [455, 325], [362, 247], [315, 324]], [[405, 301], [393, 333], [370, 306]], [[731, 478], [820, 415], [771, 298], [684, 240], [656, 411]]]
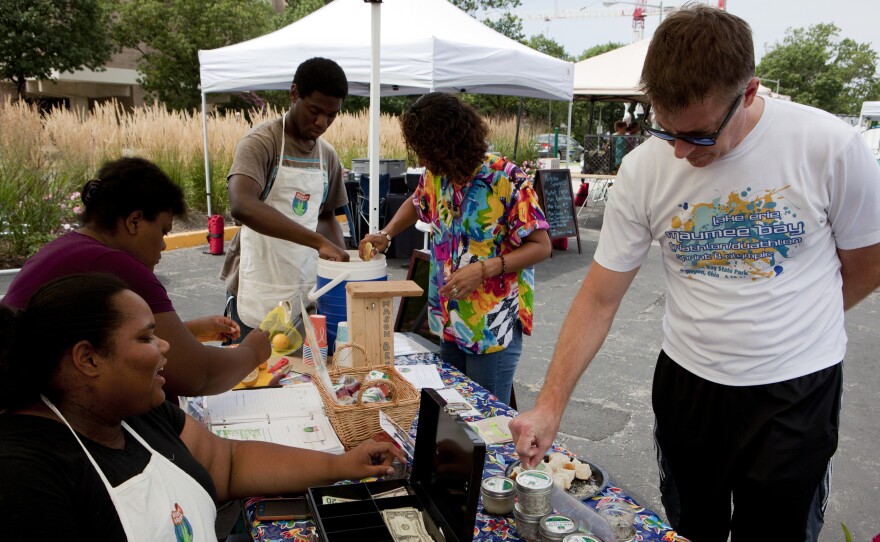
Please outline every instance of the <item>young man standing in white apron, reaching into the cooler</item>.
[[308, 292], [318, 258], [348, 260], [336, 221], [336, 209], [348, 203], [342, 165], [321, 139], [347, 95], [338, 64], [306, 60], [290, 86], [290, 110], [251, 129], [235, 148], [229, 205], [242, 227], [220, 277], [242, 337], [279, 302]]

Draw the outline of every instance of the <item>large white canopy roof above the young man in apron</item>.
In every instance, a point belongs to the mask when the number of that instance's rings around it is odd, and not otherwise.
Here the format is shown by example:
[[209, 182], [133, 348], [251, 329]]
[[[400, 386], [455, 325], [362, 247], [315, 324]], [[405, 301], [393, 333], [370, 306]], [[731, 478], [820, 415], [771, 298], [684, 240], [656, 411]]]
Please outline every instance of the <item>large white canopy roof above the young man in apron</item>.
[[[447, 0], [382, 3], [383, 96], [430, 91], [571, 100], [574, 65], [495, 32]], [[286, 90], [296, 67], [323, 56], [350, 92], [369, 94], [370, 4], [335, 0], [280, 30], [199, 51], [202, 92]]]

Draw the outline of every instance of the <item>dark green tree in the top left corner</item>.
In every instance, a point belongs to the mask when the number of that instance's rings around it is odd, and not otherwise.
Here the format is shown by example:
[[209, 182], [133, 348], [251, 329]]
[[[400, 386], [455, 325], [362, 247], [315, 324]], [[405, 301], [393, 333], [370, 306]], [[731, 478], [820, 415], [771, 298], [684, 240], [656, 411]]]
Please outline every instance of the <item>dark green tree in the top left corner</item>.
[[0, 80], [19, 97], [28, 78], [98, 69], [113, 52], [100, 0], [4, 0], [0, 8]]

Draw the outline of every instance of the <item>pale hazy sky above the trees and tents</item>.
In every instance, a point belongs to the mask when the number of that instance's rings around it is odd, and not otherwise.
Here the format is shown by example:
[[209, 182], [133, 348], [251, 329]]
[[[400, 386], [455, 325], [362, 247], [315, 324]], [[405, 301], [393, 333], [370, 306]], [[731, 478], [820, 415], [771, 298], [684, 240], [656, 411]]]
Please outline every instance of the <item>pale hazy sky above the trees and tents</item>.
[[[664, 8], [678, 6], [683, 2], [669, 0]], [[717, 0], [709, 2], [717, 5]], [[554, 4], [562, 10], [607, 11], [601, 0], [522, 0], [515, 13], [552, 11]], [[648, 4], [659, 4], [648, 0]], [[613, 8], [631, 10], [632, 6], [618, 4]], [[840, 37], [848, 37], [859, 43], [871, 43], [880, 52], [880, 3], [877, 0], [727, 0], [727, 10], [748, 21], [755, 36], [755, 54], [758, 61], [766, 53], [766, 45], [781, 42], [787, 28], [807, 28], [817, 23], [834, 23], [840, 29]], [[645, 37], [657, 28], [658, 16], [645, 20]], [[629, 43], [632, 39], [632, 18], [625, 16], [590, 17], [580, 19], [556, 19], [549, 22], [525, 20], [523, 29], [527, 36], [547, 34], [561, 43], [573, 56], [580, 55], [593, 45], [617, 41]]]

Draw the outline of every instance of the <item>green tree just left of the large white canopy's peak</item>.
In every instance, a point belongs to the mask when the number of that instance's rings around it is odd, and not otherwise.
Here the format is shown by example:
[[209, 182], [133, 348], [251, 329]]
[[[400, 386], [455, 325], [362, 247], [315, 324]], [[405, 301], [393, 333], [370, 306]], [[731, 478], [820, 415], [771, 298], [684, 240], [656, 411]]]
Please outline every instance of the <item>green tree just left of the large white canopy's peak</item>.
[[263, 0], [117, 0], [115, 40], [136, 48], [140, 83], [171, 109], [199, 106], [199, 49], [215, 49], [272, 30]]

